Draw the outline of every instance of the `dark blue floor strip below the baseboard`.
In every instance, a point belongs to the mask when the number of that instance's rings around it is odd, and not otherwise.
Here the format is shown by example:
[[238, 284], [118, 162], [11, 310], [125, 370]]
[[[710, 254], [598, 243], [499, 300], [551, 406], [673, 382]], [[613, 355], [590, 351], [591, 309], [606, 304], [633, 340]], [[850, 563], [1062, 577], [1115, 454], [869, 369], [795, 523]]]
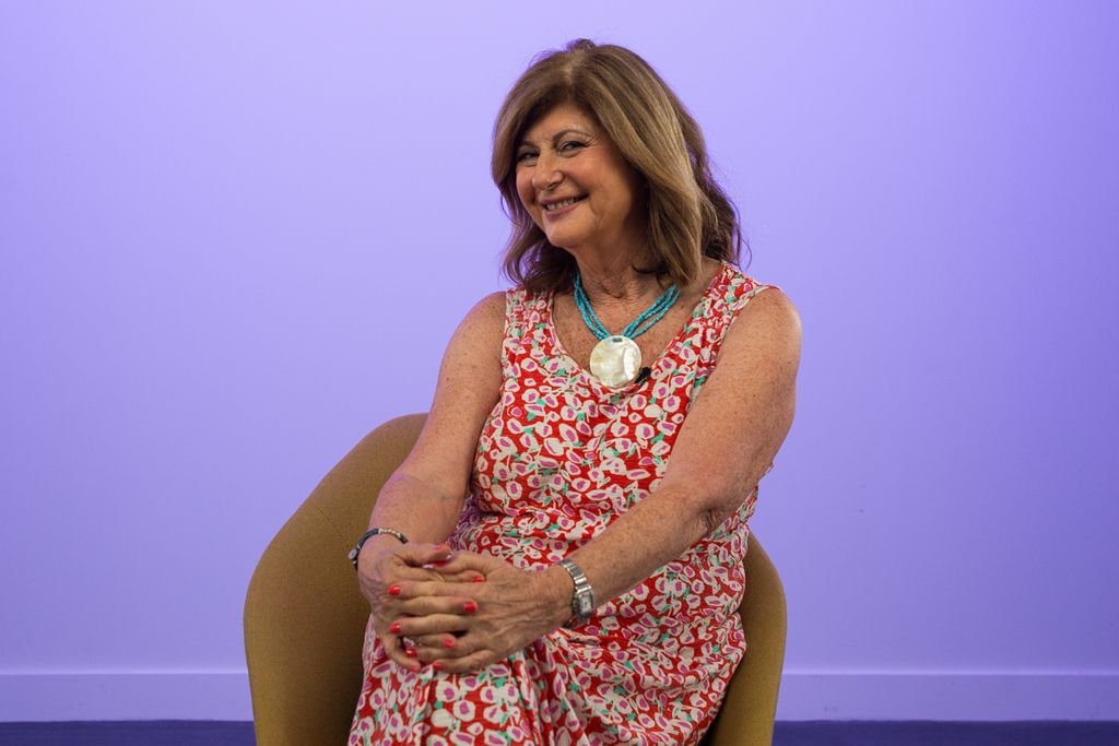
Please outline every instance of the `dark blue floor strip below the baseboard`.
[[[0, 723], [2, 746], [62, 744], [253, 746], [253, 724], [208, 720]], [[779, 721], [773, 746], [1119, 746], [1119, 723]]]

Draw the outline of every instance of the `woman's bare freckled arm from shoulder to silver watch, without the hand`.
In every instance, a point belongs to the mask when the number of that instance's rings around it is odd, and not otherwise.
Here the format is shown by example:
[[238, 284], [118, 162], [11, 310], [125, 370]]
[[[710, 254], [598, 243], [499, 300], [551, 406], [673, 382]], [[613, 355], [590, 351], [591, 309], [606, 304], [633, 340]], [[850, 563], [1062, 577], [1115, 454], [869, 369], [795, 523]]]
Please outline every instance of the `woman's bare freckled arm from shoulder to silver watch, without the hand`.
[[[742, 310], [658, 488], [571, 555], [598, 603], [709, 536], [758, 484], [792, 426], [800, 337], [800, 318], [779, 290], [759, 293]], [[563, 569], [548, 572], [572, 586]]]

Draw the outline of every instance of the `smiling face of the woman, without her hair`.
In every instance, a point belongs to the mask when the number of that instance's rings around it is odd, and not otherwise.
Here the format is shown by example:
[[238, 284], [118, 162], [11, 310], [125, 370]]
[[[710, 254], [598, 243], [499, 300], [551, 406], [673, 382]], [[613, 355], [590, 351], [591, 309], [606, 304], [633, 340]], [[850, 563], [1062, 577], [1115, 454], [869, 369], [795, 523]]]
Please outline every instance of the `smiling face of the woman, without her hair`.
[[640, 252], [642, 179], [592, 116], [560, 104], [517, 143], [517, 195], [553, 246], [576, 255]]

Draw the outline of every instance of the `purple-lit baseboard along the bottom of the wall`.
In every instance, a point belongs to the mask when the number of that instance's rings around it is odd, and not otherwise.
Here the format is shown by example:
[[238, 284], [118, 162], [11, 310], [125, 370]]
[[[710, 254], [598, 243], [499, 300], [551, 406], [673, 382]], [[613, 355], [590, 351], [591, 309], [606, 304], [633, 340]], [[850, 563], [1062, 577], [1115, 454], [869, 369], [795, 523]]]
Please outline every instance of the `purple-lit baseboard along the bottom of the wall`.
[[[0, 721], [252, 718], [243, 670], [0, 672]], [[787, 671], [778, 719], [1119, 720], [1119, 671]]]

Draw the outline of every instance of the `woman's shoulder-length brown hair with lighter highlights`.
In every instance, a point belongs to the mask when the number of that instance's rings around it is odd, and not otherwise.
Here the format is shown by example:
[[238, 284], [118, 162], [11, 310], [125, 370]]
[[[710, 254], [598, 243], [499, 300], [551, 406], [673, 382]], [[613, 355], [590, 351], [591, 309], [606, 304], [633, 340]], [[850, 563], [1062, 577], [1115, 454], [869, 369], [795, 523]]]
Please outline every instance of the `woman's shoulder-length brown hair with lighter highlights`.
[[517, 195], [517, 144], [558, 104], [593, 116], [647, 186], [650, 256], [637, 270], [684, 286], [699, 275], [704, 256], [737, 263], [737, 211], [712, 176], [699, 125], [641, 57], [576, 39], [534, 60], [493, 124], [490, 169], [513, 221], [502, 267], [509, 280], [534, 293], [554, 292], [571, 287], [575, 274], [575, 259], [548, 242]]

